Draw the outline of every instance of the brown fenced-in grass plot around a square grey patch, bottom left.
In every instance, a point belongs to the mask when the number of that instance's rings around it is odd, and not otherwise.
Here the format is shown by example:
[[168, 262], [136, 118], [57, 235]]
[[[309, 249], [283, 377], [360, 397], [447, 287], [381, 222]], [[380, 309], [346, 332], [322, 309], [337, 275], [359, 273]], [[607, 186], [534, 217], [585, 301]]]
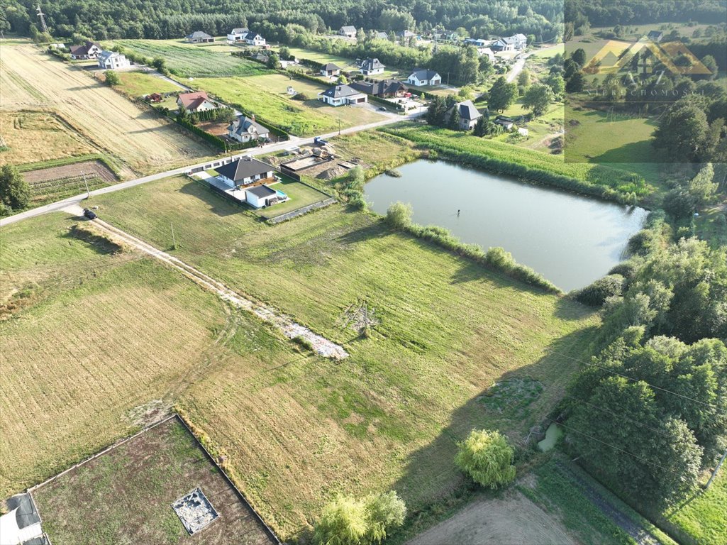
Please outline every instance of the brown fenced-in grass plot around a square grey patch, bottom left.
[[[221, 516], [190, 536], [170, 505], [197, 487]], [[33, 498], [56, 545], [184, 545], [200, 536], [206, 545], [273, 544], [176, 419], [38, 488]]]

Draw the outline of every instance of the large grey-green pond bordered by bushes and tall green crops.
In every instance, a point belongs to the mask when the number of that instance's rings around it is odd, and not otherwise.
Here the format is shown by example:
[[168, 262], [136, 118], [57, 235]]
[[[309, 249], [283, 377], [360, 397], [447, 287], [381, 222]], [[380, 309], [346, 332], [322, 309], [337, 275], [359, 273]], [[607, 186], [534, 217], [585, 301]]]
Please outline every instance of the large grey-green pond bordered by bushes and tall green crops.
[[485, 250], [502, 246], [566, 291], [619, 263], [648, 213], [450, 162], [421, 159], [398, 170], [401, 178], [366, 184], [372, 210], [385, 214], [393, 202], [408, 202], [415, 223], [446, 227]]

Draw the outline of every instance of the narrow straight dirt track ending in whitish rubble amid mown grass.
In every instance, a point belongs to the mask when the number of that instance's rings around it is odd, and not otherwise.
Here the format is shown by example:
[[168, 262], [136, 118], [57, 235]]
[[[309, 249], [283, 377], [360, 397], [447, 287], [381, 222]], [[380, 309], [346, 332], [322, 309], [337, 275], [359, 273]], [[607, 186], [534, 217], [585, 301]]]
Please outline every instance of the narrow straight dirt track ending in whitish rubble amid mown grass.
[[[76, 212], [79, 212], [79, 210], [76, 210]], [[103, 231], [111, 234], [111, 236], [115, 237], [116, 239], [120, 239], [121, 242], [129, 244], [129, 246], [137, 248], [137, 250], [141, 250], [142, 252], [145, 252], [153, 258], [161, 260], [168, 266], [176, 268], [177, 271], [180, 271], [182, 274], [184, 274], [185, 277], [192, 280], [193, 282], [196, 282], [196, 284], [200, 285], [201, 287], [204, 287], [205, 290], [216, 293], [222, 299], [222, 301], [227, 301], [233, 306], [236, 306], [238, 309], [244, 309], [246, 311], [252, 312], [252, 314], [262, 319], [263, 321], [274, 325], [278, 328], [278, 330], [281, 330], [286, 338], [305, 339], [305, 341], [308, 341], [308, 343], [310, 343], [310, 346], [313, 346], [313, 350], [323, 357], [331, 359], [344, 359], [348, 357], [348, 352], [346, 352], [342, 348], [342, 346], [339, 346], [336, 343], [329, 341], [321, 335], [313, 333], [313, 331], [309, 330], [308, 327], [304, 327], [297, 322], [294, 322], [290, 317], [282, 314], [280, 311], [273, 308], [272, 306], [254, 302], [251, 299], [246, 298], [234, 292], [233, 290], [230, 290], [230, 288], [222, 284], [222, 282], [218, 282], [212, 277], [208, 277], [203, 272], [198, 271], [196, 268], [188, 265], [187, 263], [184, 263], [182, 260], [179, 260], [166, 252], [158, 250], [151, 244], [147, 244], [146, 242], [137, 239], [135, 236], [132, 236], [125, 231], [121, 231], [121, 229], [116, 228], [109, 223], [100, 220], [99, 218], [93, 220], [93, 223], [97, 227], [101, 228]]]

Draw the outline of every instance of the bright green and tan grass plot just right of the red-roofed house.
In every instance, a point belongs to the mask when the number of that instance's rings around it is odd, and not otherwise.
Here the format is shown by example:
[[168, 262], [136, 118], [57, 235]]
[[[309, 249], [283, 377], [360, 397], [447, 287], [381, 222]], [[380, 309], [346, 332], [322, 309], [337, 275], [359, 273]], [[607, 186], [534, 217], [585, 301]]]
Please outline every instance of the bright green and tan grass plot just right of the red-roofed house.
[[[317, 99], [325, 87], [310, 81], [291, 81], [282, 74], [253, 77], [198, 78], [194, 87], [214, 93], [226, 103], [238, 104], [263, 121], [297, 136], [311, 136], [317, 132], [329, 132], [339, 127], [353, 127], [385, 119], [366, 108], [353, 106], [326, 106]], [[292, 100], [288, 86], [297, 92], [305, 92], [309, 99]]]

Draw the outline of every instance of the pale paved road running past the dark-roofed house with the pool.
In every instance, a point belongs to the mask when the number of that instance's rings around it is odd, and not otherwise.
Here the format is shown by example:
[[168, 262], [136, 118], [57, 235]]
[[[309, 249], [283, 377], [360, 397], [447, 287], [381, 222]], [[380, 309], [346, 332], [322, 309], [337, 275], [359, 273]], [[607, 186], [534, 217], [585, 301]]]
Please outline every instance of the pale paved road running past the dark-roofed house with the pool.
[[[342, 129], [340, 134], [342, 135], [350, 135], [354, 132], [359, 132], [362, 130], [370, 130], [370, 129], [376, 129], [377, 127], [384, 127], [385, 125], [390, 125], [393, 123], [398, 123], [401, 121], [411, 121], [411, 119], [416, 119], [419, 116], [422, 116], [425, 114], [426, 108], [420, 108], [421, 111], [417, 111], [414, 114], [409, 114], [407, 116], [395, 116], [395, 117], [389, 117], [387, 119], [383, 119], [382, 121], [375, 122], [375, 123], [369, 123], [365, 125], [358, 125], [356, 127], [349, 127], [348, 129]], [[339, 133], [336, 132], [329, 132], [325, 135], [321, 135], [323, 138], [333, 138], [334, 136], [337, 136]], [[285, 140], [284, 142], [279, 142], [276, 144], [269, 144], [268, 146], [264, 146], [262, 148], [250, 148], [249, 150], [245, 150], [241, 152], [239, 155], [262, 155], [262, 154], [269, 154], [275, 151], [282, 151], [285, 148], [289, 148], [290, 146], [303, 146], [306, 144], [312, 144], [313, 138], [297, 138], [297, 137], [291, 137], [290, 140]], [[108, 186], [100, 189], [96, 189], [95, 191], [91, 191], [91, 196], [97, 196], [97, 195], [103, 195], [107, 193], [113, 193], [113, 191], [120, 191], [121, 189], [127, 189], [134, 186], [140, 186], [142, 183], [148, 183], [153, 182], [154, 180], [161, 180], [162, 178], [169, 178], [170, 176], [183, 174], [185, 172], [189, 172], [193, 168], [196, 167], [203, 167], [205, 164], [209, 164], [212, 162], [212, 160], [219, 160], [221, 157], [218, 156], [214, 159], [208, 159], [205, 162], [197, 163], [197, 164], [190, 164], [186, 167], [180, 167], [172, 170], [166, 170], [165, 172], [158, 172], [156, 174], [144, 176], [142, 178], [136, 178], [135, 180], [128, 180], [126, 182], [116, 183], [113, 186]], [[18, 221], [27, 220], [28, 218], [35, 218], [36, 216], [47, 214], [49, 212], [57, 212], [58, 210], [63, 210], [63, 208], [72, 207], [73, 205], [79, 205], [84, 199], [86, 199], [87, 194], [82, 193], [75, 196], [70, 196], [66, 199], [53, 202], [51, 204], [46, 204], [45, 206], [41, 206], [38, 208], [33, 208], [33, 210], [28, 210], [26, 212], [21, 212], [20, 214], [15, 214], [12, 216], [9, 216], [7, 218], [0, 219], [0, 227], [10, 225], [11, 223], [16, 223]]]

